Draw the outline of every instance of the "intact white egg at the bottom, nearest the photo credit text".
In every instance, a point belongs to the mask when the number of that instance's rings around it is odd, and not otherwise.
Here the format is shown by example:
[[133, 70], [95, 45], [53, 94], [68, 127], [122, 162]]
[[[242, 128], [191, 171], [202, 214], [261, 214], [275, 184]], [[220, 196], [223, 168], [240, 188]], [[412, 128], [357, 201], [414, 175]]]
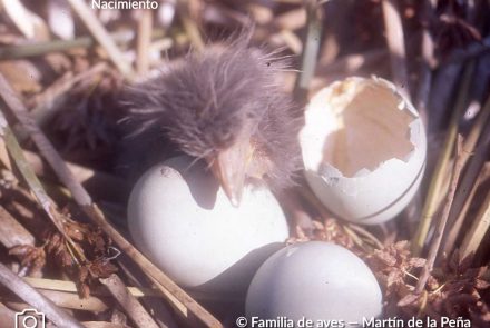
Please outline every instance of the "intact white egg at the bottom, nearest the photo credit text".
[[380, 316], [382, 295], [374, 275], [353, 252], [310, 241], [288, 246], [261, 266], [245, 307], [248, 320], [308, 319], [314, 327], [332, 327], [326, 324], [336, 320], [345, 326], [335, 327], [350, 327]]

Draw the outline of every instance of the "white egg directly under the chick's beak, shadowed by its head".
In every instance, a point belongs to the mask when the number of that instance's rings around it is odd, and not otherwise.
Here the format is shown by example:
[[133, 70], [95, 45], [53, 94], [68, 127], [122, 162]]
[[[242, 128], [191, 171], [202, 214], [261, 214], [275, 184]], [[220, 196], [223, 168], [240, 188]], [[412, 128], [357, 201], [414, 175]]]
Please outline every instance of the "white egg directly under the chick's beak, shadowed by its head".
[[245, 292], [261, 264], [288, 237], [272, 192], [246, 187], [238, 208], [204, 165], [179, 157], [148, 170], [133, 189], [136, 246], [184, 287]]

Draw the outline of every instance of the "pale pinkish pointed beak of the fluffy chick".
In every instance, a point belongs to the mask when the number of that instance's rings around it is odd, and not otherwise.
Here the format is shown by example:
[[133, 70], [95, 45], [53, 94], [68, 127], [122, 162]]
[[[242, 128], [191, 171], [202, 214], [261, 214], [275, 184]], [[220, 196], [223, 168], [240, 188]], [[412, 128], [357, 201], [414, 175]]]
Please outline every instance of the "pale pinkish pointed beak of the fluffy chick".
[[234, 207], [238, 207], [245, 183], [251, 142], [238, 140], [210, 159], [210, 169]]

